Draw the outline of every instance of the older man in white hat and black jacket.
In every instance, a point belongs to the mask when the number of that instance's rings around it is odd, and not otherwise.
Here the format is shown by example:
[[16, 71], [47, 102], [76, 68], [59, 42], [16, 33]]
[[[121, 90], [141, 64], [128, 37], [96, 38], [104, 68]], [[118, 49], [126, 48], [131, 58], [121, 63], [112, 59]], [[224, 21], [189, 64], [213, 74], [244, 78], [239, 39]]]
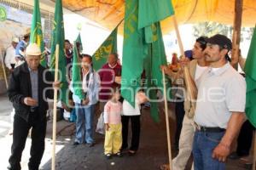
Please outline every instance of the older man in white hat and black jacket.
[[[10, 77], [8, 94], [9, 100], [15, 107], [15, 119], [9, 170], [21, 169], [21, 155], [30, 128], [32, 128], [31, 158], [28, 162], [30, 170], [38, 169], [44, 154], [48, 110], [45, 99], [53, 99], [52, 90], [47, 90], [52, 86], [53, 77], [40, 65], [41, 54], [41, 49], [36, 43], [29, 44], [25, 53], [26, 62], [15, 68]], [[56, 88], [60, 87], [59, 82], [53, 84]]]

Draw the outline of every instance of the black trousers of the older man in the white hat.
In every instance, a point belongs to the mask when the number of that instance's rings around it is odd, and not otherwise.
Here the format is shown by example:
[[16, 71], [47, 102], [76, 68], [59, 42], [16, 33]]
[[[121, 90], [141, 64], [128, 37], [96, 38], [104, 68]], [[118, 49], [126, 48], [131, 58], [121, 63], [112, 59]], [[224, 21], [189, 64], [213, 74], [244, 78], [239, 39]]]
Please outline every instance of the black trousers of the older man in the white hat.
[[30, 159], [28, 167], [30, 170], [38, 170], [41, 159], [44, 154], [44, 138], [46, 133], [46, 118], [38, 119], [38, 112], [33, 112], [29, 116], [29, 121], [26, 122], [23, 118], [15, 114], [14, 129], [13, 129], [13, 144], [11, 148], [11, 156], [9, 164], [11, 170], [20, 170], [20, 160], [22, 151], [25, 148], [26, 137], [29, 129], [32, 127], [32, 145], [30, 149]]

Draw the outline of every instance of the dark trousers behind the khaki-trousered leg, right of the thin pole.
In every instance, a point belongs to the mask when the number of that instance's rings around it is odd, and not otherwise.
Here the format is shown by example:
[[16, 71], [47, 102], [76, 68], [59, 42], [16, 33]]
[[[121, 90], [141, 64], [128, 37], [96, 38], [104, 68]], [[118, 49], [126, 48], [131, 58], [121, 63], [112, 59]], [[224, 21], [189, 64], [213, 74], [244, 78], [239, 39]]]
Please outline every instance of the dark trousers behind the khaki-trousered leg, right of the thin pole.
[[179, 136], [181, 133], [181, 129], [183, 127], [183, 118], [185, 115], [184, 111], [184, 102], [176, 102], [175, 103], [175, 114], [176, 114], [176, 133], [175, 133], [175, 144], [178, 145]]

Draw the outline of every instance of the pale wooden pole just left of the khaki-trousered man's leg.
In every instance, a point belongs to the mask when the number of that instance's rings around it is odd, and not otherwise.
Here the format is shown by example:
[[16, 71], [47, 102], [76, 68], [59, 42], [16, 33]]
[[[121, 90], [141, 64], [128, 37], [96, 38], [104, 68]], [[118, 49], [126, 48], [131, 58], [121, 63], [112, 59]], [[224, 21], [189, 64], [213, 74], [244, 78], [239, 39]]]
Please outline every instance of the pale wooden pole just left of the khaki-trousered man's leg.
[[169, 156], [169, 168], [172, 170], [172, 145], [171, 145], [171, 135], [169, 127], [169, 116], [168, 116], [168, 105], [167, 105], [167, 95], [166, 95], [166, 76], [165, 72], [162, 71], [163, 84], [164, 84], [164, 99], [165, 99], [165, 112], [166, 112], [166, 133], [167, 133], [167, 144], [168, 144], [168, 156]]

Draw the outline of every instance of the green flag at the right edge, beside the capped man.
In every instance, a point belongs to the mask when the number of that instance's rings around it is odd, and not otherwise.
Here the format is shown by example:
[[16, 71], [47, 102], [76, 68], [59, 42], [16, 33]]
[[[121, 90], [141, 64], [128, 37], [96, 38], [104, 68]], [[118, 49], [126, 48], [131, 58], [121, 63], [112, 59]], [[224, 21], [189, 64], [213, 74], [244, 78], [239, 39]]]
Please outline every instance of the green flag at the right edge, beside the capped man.
[[256, 127], [256, 29], [254, 28], [251, 45], [247, 54], [244, 71], [247, 82], [246, 114], [248, 120]]

